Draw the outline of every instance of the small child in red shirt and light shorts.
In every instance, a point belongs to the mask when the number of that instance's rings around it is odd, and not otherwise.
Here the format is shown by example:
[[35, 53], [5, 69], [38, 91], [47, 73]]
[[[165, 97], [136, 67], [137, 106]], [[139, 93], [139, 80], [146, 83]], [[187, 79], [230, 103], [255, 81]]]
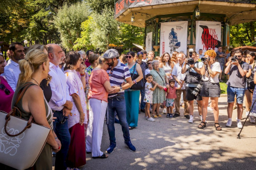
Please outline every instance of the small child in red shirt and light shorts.
[[166, 96], [166, 107], [167, 107], [167, 115], [166, 118], [173, 118], [173, 105], [174, 105], [174, 99], [177, 98], [176, 96], [176, 90], [181, 89], [180, 87], [174, 87], [175, 80], [169, 79], [170, 87], [167, 89], [167, 96]]

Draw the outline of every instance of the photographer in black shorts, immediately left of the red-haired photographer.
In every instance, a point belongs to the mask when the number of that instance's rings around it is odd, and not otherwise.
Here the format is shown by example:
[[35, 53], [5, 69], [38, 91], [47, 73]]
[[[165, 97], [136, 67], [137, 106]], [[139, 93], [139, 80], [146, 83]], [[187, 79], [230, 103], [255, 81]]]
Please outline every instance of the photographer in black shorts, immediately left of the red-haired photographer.
[[[200, 96], [200, 87], [202, 84], [201, 68], [202, 62], [197, 61], [197, 55], [192, 55], [193, 49], [189, 49], [189, 59], [185, 59], [181, 73], [187, 72], [186, 78], [186, 99], [189, 101], [189, 123], [194, 121], [194, 100], [197, 100], [198, 112], [202, 121], [202, 97]], [[193, 52], [194, 54], [194, 52]], [[187, 117], [186, 117], [187, 118]]]

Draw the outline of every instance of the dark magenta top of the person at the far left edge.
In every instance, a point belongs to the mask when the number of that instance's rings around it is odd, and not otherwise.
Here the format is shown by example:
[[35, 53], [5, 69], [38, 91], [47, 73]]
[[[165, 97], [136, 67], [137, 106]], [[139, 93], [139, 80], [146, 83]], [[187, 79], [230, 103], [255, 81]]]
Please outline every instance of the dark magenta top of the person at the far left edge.
[[[7, 83], [6, 79], [4, 79], [2, 76], [0, 76], [0, 79], [0, 110], [9, 113], [11, 111], [12, 97], [14, 96], [14, 91], [12, 90], [11, 86]], [[4, 92], [6, 91], [6, 89], [10, 91], [10, 94], [6, 94], [6, 92]]]

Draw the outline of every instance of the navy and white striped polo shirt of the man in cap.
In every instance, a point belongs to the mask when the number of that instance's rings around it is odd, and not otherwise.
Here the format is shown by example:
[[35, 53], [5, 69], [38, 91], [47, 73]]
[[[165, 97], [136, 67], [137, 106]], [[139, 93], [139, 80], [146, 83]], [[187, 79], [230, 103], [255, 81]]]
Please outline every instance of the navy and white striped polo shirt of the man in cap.
[[[124, 83], [124, 81], [127, 78], [130, 78], [129, 68], [123, 63], [121, 63], [120, 60], [118, 60], [118, 63], [116, 67], [113, 68], [113, 70], [111, 70], [111, 67], [108, 68], [107, 73], [109, 74], [110, 72], [111, 72], [111, 76], [109, 76], [109, 80], [110, 80], [111, 86], [121, 86], [121, 84]], [[114, 94], [109, 94], [108, 97], [113, 97], [117, 94], [124, 95], [124, 90]]]

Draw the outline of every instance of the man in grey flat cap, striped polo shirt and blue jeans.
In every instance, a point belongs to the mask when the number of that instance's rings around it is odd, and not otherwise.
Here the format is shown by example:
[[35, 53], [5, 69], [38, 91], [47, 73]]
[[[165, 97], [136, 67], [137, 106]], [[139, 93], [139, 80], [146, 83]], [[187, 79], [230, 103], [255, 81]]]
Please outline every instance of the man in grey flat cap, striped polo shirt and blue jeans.
[[103, 55], [103, 58], [106, 59], [106, 63], [109, 65], [107, 73], [109, 75], [110, 84], [114, 87], [114, 89], [109, 92], [108, 95], [107, 125], [110, 145], [107, 152], [113, 153], [114, 149], [116, 148], [114, 129], [115, 111], [122, 126], [124, 143], [127, 145], [127, 147], [129, 147], [130, 151], [135, 152], [136, 148], [130, 142], [129, 125], [126, 119], [126, 100], [124, 99], [124, 90], [131, 87], [133, 82], [132, 78], [130, 77], [129, 68], [122, 64], [120, 60], [116, 59], [116, 57], [119, 57], [119, 54], [115, 49], [109, 49]]

